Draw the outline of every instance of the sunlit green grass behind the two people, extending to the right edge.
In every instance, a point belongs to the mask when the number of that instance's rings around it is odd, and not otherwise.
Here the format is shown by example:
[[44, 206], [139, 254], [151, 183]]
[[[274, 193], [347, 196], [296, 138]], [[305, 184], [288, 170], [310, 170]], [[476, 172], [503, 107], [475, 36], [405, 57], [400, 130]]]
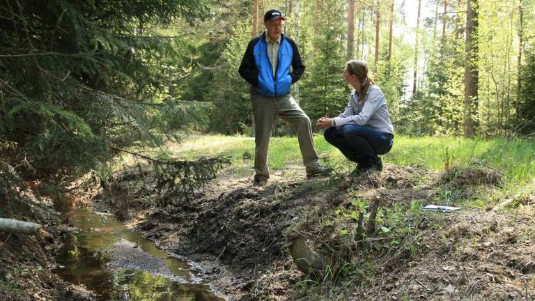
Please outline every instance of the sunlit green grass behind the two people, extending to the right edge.
[[[341, 173], [350, 173], [355, 164], [349, 162], [338, 149], [321, 136], [314, 137], [322, 164], [336, 167]], [[254, 174], [254, 138], [242, 136], [191, 136], [180, 144], [169, 144], [169, 153], [184, 159], [206, 155], [231, 157], [230, 173], [240, 176]], [[396, 136], [394, 148], [382, 156], [386, 164], [421, 166], [434, 172], [454, 168], [483, 167], [503, 175], [503, 185], [497, 189], [474, 194], [460, 205], [488, 208], [508, 197], [516, 199], [535, 190], [535, 141], [507, 139], [464, 139], [457, 137], [403, 137]], [[295, 137], [275, 137], [270, 140], [269, 166], [272, 173], [284, 171], [285, 178], [300, 176], [302, 158]], [[302, 171], [304, 173], [304, 171]], [[459, 201], [460, 195], [449, 185], [440, 187], [437, 201], [448, 204]]]

